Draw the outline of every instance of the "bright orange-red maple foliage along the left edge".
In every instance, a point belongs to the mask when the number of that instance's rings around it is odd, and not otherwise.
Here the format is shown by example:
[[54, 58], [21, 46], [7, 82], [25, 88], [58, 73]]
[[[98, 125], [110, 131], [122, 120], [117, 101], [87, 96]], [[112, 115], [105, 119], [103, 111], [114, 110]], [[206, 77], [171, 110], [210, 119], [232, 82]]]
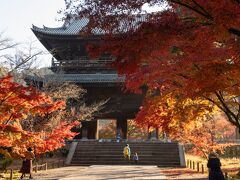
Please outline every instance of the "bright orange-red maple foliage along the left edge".
[[[14, 82], [11, 76], [1, 78], [0, 146], [10, 147], [13, 157], [25, 156], [28, 147], [34, 149], [35, 155], [40, 155], [64, 146], [65, 139], [76, 135], [71, 132], [71, 128], [79, 122], [62, 119], [56, 126], [41, 131], [30, 127], [24, 129], [22, 124], [24, 120], [30, 121], [37, 117], [45, 119], [51, 113], [60, 113], [64, 108], [64, 101], [53, 101], [50, 96], [31, 86], [25, 87]], [[38, 123], [46, 127], [41, 121]]]

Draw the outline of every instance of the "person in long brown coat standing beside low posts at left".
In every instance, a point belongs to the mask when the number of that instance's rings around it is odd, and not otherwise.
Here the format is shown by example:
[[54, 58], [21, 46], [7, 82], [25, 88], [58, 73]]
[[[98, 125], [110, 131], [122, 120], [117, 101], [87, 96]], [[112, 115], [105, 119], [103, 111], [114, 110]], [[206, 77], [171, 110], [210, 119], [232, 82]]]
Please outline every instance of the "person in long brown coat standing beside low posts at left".
[[27, 150], [27, 155], [24, 158], [20, 169], [20, 173], [22, 173], [21, 179], [23, 179], [26, 174], [30, 174], [29, 179], [32, 179], [32, 159], [34, 158], [34, 154], [32, 148], [29, 147]]

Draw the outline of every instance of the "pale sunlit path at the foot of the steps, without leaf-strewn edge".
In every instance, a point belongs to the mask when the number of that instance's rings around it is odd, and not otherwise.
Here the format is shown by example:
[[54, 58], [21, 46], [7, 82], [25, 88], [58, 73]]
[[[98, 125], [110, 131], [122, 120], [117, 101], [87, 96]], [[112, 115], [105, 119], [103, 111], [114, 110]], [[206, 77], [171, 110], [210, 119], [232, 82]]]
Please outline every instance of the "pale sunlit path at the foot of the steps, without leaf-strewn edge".
[[70, 166], [34, 174], [34, 179], [120, 180], [167, 179], [157, 166]]

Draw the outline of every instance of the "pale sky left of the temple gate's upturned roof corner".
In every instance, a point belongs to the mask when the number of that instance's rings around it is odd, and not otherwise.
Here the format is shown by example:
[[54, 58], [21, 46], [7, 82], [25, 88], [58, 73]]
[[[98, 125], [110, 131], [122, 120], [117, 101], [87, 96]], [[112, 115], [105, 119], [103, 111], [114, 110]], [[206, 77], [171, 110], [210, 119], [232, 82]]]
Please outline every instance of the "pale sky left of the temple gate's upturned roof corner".
[[[0, 32], [17, 42], [36, 41], [32, 24], [42, 27], [59, 27], [63, 24], [57, 11], [64, 8], [64, 0], [1, 0]], [[41, 43], [36, 46], [46, 50]], [[44, 57], [43, 65], [49, 66], [51, 57]]]

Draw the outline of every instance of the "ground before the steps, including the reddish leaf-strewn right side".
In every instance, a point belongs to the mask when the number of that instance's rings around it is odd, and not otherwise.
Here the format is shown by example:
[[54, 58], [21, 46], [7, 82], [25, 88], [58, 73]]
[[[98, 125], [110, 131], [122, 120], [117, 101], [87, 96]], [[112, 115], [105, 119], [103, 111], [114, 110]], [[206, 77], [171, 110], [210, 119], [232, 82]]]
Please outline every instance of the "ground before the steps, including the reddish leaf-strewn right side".
[[[195, 179], [207, 180], [187, 168], [158, 168], [156, 166], [69, 166], [33, 174], [39, 180], [125, 180], [125, 179]], [[28, 176], [24, 179], [28, 179]]]

